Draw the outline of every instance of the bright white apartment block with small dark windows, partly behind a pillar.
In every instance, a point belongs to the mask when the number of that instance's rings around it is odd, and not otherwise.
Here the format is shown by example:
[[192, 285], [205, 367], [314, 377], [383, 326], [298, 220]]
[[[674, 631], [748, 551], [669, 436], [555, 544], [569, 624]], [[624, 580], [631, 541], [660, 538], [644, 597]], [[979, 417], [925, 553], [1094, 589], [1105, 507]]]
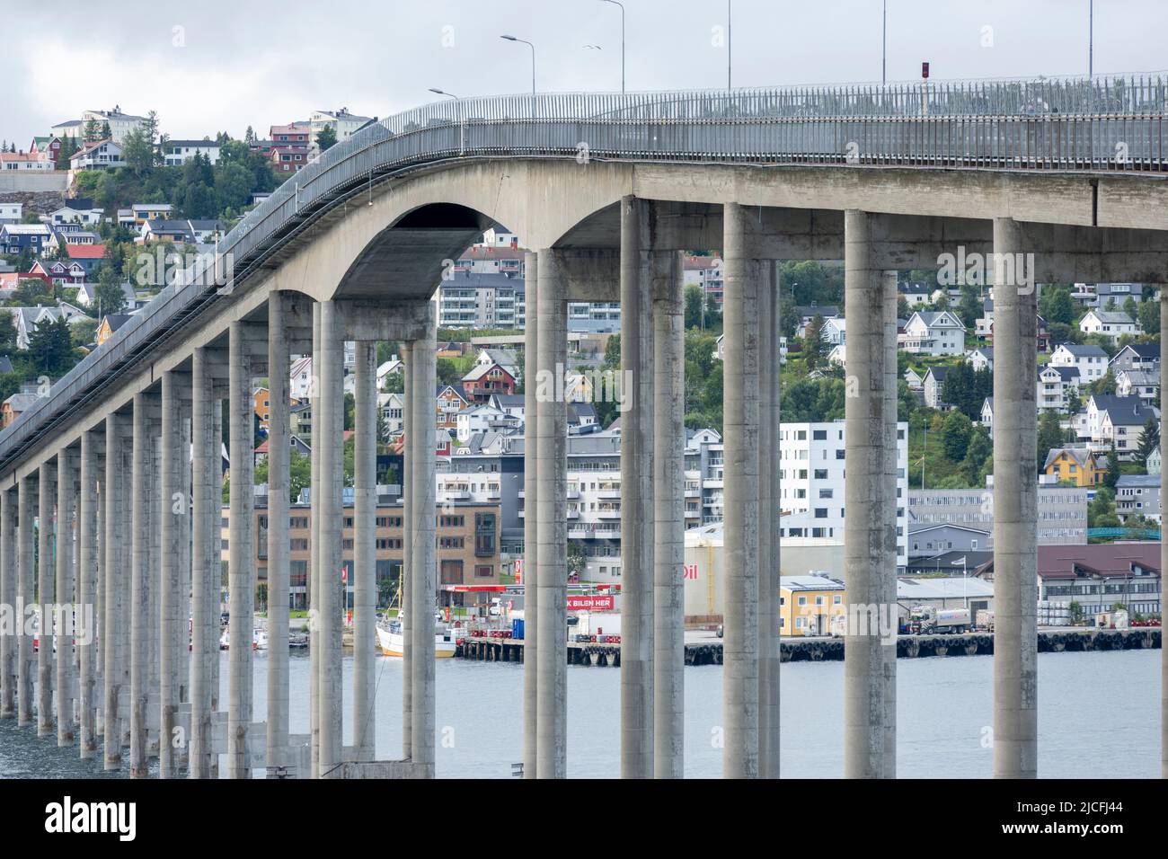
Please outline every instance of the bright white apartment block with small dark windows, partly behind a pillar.
[[[784, 423], [779, 429], [779, 480], [784, 540], [843, 542], [843, 421]], [[905, 498], [909, 425], [896, 427], [896, 563], [909, 562]]]

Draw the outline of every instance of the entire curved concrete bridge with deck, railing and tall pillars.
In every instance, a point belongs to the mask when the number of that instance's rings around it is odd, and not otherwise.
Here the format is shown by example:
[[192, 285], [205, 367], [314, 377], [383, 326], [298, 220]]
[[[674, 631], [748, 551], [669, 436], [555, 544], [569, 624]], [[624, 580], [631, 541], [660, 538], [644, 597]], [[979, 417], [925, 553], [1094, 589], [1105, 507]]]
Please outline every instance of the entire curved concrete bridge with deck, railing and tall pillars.
[[[524, 771], [565, 774], [568, 300], [619, 300], [621, 775], [682, 774], [682, 272], [725, 271], [724, 774], [778, 775], [777, 261], [846, 268], [848, 600], [895, 605], [897, 269], [961, 261], [996, 284], [994, 767], [1037, 774], [1035, 283], [1168, 272], [1163, 78], [444, 102], [375, 123], [290, 178], [0, 435], [0, 602], [97, 605], [96, 642], [34, 656], [0, 636], [0, 715], [144, 776], [432, 776], [436, 316], [452, 259], [492, 223], [527, 259]], [[944, 255], [952, 255], [945, 257]], [[952, 266], [951, 266], [952, 268]], [[1168, 324], [1168, 313], [1163, 314]], [[374, 344], [406, 356], [404, 761], [376, 761]], [[342, 356], [357, 344], [355, 743], [342, 743]], [[288, 733], [286, 617], [267, 712], [252, 652], [218, 700], [218, 449], [251, 446], [251, 382], [286, 402], [312, 354], [311, 734]], [[220, 403], [229, 403], [223, 427]], [[288, 417], [271, 415], [269, 598], [287, 602]], [[417, 439], [423, 439], [418, 442]], [[187, 456], [187, 451], [192, 456]], [[1168, 456], [1166, 456], [1168, 462]], [[252, 464], [230, 474], [230, 612], [253, 610]], [[246, 487], [238, 491], [238, 487]], [[55, 524], [55, 525], [54, 525]], [[34, 531], [34, 527], [40, 527]], [[54, 529], [60, 539], [54, 540]], [[70, 535], [72, 538], [70, 539]], [[34, 552], [34, 539], [39, 540]], [[321, 579], [321, 576], [325, 576]], [[187, 656], [183, 621], [194, 618]], [[877, 612], [878, 614], [878, 612]], [[84, 612], [82, 612], [84, 617]], [[238, 630], [237, 630], [238, 632]], [[895, 649], [850, 630], [846, 775], [896, 774]], [[245, 635], [245, 629], [243, 630]], [[55, 693], [55, 694], [54, 694]], [[225, 716], [223, 715], [225, 713]], [[154, 726], [152, 728], [152, 726]], [[185, 737], [168, 742], [167, 737]], [[154, 746], [157, 744], [157, 749]], [[1166, 743], [1168, 747], [1168, 743]]]

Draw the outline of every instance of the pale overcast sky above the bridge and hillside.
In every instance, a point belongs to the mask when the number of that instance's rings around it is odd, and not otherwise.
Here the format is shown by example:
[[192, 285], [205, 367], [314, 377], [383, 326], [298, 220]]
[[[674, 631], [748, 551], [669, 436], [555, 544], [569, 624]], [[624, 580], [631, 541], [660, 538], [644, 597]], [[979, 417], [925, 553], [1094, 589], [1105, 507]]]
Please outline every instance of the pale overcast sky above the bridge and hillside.
[[[4, 0], [7, 5], [11, 0]], [[881, 76], [881, 0], [732, 0], [735, 86]], [[726, 0], [625, 0], [630, 90], [724, 86]], [[602, 0], [139, 0], [23, 5], [0, 49], [0, 137], [119, 104], [172, 138], [347, 106], [384, 117], [436, 98], [620, 89], [620, 9]], [[1096, 0], [1094, 69], [1168, 67], [1166, 0]], [[19, 32], [18, 32], [19, 30]], [[584, 46], [596, 44], [599, 50]], [[888, 78], [1083, 75], [1087, 0], [888, 0]]]

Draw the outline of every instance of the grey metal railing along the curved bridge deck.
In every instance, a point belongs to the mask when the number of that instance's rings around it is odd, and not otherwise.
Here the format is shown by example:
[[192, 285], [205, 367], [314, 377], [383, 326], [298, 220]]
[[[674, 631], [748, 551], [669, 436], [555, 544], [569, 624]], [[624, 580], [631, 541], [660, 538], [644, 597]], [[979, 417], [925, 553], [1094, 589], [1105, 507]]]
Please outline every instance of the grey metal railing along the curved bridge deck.
[[[244, 280], [340, 201], [471, 158], [1162, 172], [1166, 105], [1166, 74], [445, 99], [322, 153], [227, 235], [213, 265], [231, 259]], [[213, 272], [187, 270], [0, 432], [0, 470], [223, 298]]]

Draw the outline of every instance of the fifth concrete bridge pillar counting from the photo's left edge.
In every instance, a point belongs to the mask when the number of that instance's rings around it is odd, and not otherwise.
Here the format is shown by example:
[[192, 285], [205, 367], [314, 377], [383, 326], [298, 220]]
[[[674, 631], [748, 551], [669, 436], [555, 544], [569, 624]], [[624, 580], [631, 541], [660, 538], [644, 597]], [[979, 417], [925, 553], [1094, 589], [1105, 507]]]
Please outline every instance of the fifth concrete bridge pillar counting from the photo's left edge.
[[77, 637], [79, 674], [77, 680], [77, 713], [81, 723], [81, 756], [97, 754], [93, 697], [95, 663], [98, 660], [97, 632], [97, 443], [92, 431], [81, 436], [81, 463], [77, 517], [77, 616], [81, 624]]

